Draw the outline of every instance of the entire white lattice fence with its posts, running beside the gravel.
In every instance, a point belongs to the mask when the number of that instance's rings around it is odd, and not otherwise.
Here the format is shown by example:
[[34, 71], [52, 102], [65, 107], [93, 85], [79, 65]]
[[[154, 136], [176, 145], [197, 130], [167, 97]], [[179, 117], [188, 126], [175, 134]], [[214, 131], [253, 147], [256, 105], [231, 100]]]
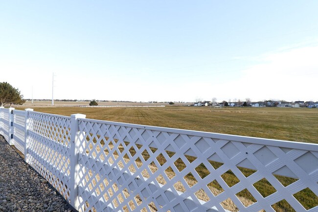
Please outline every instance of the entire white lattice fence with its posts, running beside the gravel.
[[[274, 212], [282, 201], [318, 211], [296, 198], [318, 198], [316, 144], [14, 108], [0, 108], [0, 134], [79, 212]], [[264, 182], [271, 193], [259, 191]]]

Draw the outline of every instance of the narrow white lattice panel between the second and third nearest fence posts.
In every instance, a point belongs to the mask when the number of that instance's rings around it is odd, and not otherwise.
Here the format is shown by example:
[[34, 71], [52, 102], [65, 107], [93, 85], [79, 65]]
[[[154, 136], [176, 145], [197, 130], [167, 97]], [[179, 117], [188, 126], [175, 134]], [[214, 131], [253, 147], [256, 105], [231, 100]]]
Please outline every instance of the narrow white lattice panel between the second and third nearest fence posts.
[[13, 145], [24, 154], [25, 111], [13, 110]]

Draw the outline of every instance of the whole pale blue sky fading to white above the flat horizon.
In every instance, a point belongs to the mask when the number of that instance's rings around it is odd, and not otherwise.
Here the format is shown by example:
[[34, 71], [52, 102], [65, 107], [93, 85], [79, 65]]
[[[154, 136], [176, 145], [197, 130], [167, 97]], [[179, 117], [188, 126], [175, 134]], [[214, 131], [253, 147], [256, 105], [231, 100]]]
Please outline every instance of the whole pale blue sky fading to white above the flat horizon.
[[0, 0], [24, 98], [318, 101], [317, 0]]

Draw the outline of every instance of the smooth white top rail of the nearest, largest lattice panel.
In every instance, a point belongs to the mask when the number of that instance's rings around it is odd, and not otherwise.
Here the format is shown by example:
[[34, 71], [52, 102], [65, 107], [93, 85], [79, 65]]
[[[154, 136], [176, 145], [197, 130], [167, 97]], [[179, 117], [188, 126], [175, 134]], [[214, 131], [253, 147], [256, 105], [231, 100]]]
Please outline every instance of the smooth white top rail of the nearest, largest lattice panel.
[[147, 125], [127, 124], [122, 122], [102, 121], [102, 120], [87, 119], [87, 118], [79, 118], [78, 120], [93, 122], [98, 124], [115, 125], [120, 127], [132, 127], [132, 128], [139, 128], [139, 129], [145, 129], [145, 130], [164, 131], [169, 133], [180, 133], [180, 134], [186, 134], [191, 136], [209, 137], [212, 139], [213, 138], [223, 139], [223, 140], [229, 140], [229, 141], [268, 145], [268, 146], [274, 146], [274, 147], [318, 151], [318, 144], [311, 144], [311, 143], [304, 143], [304, 142], [284, 141], [284, 140], [257, 138], [257, 137], [250, 137], [250, 136], [241, 136], [241, 135], [230, 135], [230, 134], [204, 132], [204, 131], [196, 131], [196, 130], [188, 130], [188, 129], [169, 128], [169, 127], [155, 127], [155, 126], [147, 126]]

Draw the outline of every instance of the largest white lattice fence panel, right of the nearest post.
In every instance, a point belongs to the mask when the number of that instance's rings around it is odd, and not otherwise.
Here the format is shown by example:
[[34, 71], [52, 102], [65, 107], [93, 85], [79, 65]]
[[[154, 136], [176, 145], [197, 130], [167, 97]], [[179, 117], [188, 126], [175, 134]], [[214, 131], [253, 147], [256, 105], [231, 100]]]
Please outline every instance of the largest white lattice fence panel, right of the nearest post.
[[79, 128], [79, 211], [304, 211], [306, 192], [317, 201], [318, 145], [90, 119]]

